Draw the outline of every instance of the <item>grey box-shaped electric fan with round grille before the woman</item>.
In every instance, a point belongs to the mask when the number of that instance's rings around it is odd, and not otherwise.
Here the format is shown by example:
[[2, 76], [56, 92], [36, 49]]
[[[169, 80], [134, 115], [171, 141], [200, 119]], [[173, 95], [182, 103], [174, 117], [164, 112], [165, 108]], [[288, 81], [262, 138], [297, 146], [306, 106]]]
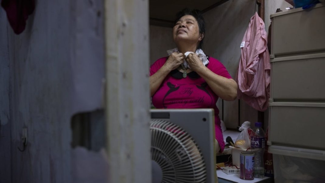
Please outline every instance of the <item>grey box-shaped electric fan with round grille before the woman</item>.
[[153, 183], [216, 181], [213, 109], [152, 109]]

